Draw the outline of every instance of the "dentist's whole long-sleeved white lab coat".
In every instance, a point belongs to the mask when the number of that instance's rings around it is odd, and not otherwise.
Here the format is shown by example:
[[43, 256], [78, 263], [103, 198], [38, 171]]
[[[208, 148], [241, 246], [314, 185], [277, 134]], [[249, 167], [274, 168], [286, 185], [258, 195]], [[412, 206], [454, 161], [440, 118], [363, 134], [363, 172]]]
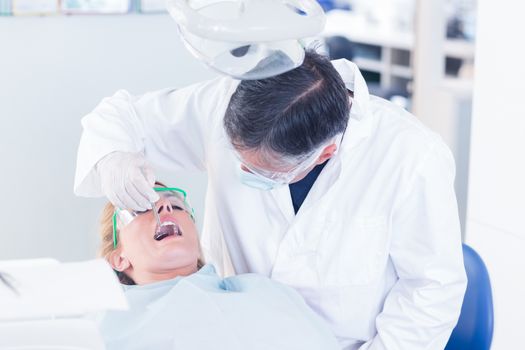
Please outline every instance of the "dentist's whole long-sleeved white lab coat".
[[238, 180], [222, 125], [230, 78], [104, 99], [82, 120], [75, 192], [102, 195], [94, 165], [113, 151], [206, 170], [202, 245], [219, 273], [294, 287], [344, 349], [443, 349], [466, 287], [453, 157], [415, 117], [369, 96], [353, 63], [333, 64], [354, 92], [350, 122], [297, 215], [287, 186]]

